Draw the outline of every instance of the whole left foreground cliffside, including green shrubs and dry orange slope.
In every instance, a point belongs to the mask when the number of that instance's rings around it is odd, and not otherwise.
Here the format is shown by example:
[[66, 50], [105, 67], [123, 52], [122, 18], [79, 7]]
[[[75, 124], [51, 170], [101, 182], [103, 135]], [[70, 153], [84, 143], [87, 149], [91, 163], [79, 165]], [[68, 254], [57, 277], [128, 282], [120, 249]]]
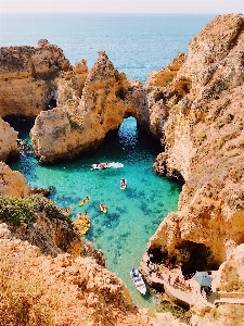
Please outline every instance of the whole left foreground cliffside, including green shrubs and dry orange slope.
[[102, 252], [84, 240], [72, 220], [40, 195], [23, 197], [24, 176], [4, 163], [1, 167], [2, 323], [183, 325], [169, 313], [132, 304], [124, 283], [106, 269]]

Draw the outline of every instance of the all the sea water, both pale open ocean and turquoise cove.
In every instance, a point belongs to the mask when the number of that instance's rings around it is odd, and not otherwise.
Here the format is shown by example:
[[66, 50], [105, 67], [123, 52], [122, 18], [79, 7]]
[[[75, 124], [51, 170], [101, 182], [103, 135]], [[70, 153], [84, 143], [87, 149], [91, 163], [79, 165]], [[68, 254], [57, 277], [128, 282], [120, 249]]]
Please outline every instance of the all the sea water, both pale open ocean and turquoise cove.
[[[91, 68], [99, 51], [128, 79], [146, 82], [150, 73], [165, 67], [179, 52], [188, 53], [191, 39], [214, 20], [210, 14], [3, 14], [0, 13], [0, 46], [36, 46], [48, 39], [60, 47], [72, 64], [86, 59]], [[27, 141], [33, 122], [10, 122], [18, 138]], [[91, 228], [85, 238], [104, 252], [106, 266], [128, 287], [140, 308], [156, 309], [156, 297], [141, 296], [129, 272], [138, 267], [149, 239], [160, 222], [178, 208], [182, 184], [152, 171], [159, 143], [137, 129], [133, 117], [124, 120], [95, 151], [70, 162], [38, 164], [31, 150], [23, 153], [13, 170], [34, 187], [54, 187], [51, 199], [70, 213], [89, 214]], [[91, 170], [98, 162], [119, 162], [124, 167]], [[119, 180], [128, 184], [120, 190]], [[91, 197], [82, 206], [79, 202]], [[107, 208], [104, 214], [99, 204]]]

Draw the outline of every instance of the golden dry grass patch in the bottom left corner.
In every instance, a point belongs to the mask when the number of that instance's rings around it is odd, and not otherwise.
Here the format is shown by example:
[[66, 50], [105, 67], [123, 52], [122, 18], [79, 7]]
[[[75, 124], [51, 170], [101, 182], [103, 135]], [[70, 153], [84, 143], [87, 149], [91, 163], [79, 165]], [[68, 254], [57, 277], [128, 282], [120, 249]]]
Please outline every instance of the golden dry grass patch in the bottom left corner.
[[59, 298], [23, 268], [25, 258], [0, 254], [0, 321], [4, 326], [52, 326], [61, 308]]

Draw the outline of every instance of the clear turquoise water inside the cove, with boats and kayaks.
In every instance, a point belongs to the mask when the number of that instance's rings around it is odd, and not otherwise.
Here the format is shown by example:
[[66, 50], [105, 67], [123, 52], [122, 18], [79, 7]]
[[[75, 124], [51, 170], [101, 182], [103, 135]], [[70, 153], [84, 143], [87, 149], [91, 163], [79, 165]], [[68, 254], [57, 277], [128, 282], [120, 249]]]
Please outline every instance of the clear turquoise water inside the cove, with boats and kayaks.
[[[17, 123], [15, 128], [21, 125]], [[27, 130], [26, 126], [20, 137], [28, 139]], [[140, 306], [152, 306], [154, 302], [136, 290], [129, 271], [138, 267], [158, 224], [177, 210], [181, 190], [179, 183], [152, 172], [159, 150], [155, 141], [137, 130], [136, 120], [129, 117], [94, 153], [53, 166], [39, 165], [31, 154], [22, 155], [11, 165], [25, 175], [31, 187], [54, 186], [51, 198], [62, 208], [74, 206], [74, 217], [78, 212], [88, 212], [92, 226], [86, 238], [104, 252], [106, 266], [126, 283]], [[124, 167], [91, 170], [97, 162], [120, 162]], [[128, 180], [126, 190], [119, 188], [121, 177]], [[87, 196], [91, 200], [79, 206]], [[100, 212], [99, 203], [107, 206], [106, 214]]]

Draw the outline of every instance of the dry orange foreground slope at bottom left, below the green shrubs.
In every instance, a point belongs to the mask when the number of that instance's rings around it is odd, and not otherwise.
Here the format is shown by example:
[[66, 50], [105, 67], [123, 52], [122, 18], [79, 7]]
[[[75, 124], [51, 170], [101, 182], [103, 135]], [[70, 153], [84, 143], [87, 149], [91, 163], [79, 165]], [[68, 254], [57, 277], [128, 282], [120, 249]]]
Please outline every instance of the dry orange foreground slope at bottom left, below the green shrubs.
[[9, 239], [0, 239], [0, 252], [3, 323], [183, 325], [169, 313], [159, 315], [136, 308], [121, 280], [91, 258], [44, 256], [28, 242]]

